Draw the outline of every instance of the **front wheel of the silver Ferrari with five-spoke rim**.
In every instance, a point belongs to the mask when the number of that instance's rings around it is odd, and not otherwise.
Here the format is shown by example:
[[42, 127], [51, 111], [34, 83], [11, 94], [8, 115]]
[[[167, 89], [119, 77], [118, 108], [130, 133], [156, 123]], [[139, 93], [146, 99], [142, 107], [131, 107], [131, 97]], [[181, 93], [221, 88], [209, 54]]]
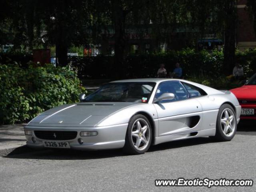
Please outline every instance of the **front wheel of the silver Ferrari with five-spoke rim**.
[[141, 114], [130, 119], [126, 131], [124, 151], [128, 154], [143, 154], [152, 142], [152, 128], [149, 120]]

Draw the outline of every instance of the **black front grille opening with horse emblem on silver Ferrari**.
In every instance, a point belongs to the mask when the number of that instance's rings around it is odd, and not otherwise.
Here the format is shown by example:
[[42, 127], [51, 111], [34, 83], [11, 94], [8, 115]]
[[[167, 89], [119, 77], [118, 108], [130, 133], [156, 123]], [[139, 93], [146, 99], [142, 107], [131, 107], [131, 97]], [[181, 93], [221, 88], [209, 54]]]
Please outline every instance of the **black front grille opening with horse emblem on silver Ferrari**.
[[37, 138], [43, 140], [72, 140], [76, 138], [76, 131], [34, 131]]

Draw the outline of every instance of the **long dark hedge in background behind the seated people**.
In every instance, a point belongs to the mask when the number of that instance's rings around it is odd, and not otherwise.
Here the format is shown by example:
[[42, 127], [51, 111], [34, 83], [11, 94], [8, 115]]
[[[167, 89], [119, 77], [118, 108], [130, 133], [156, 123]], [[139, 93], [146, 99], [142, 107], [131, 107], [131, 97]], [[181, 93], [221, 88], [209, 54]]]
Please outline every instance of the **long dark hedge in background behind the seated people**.
[[[111, 78], [114, 68], [112, 56], [72, 57], [69, 58], [73, 67], [78, 69], [80, 78]], [[236, 51], [236, 60], [244, 67], [247, 77], [256, 71], [256, 49], [245, 52]], [[172, 72], [176, 62], [180, 62], [183, 76], [208, 76], [219, 78], [223, 76], [223, 51], [213, 50], [200, 52], [186, 48], [180, 51], [169, 51], [149, 55], [130, 55], [124, 58], [124, 78], [155, 77], [161, 63], [166, 66], [167, 72]], [[235, 66], [230, 66], [230, 74]]]

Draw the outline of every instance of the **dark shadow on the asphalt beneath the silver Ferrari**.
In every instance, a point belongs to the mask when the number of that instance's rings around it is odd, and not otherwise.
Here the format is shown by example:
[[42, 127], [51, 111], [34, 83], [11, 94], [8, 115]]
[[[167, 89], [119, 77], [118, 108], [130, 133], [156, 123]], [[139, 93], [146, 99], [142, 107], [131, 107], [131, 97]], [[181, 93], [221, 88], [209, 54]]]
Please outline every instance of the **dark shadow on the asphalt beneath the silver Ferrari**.
[[[192, 138], [188, 140], [172, 141], [164, 144], [151, 146], [147, 153], [171, 150], [174, 148], [194, 146], [210, 143], [209, 138]], [[18, 159], [41, 159], [41, 160], [88, 160], [100, 158], [113, 158], [118, 156], [130, 156], [125, 154], [122, 149], [116, 150], [99, 150], [99, 151], [79, 151], [67, 149], [32, 149], [28, 146], [21, 146], [14, 149], [3, 158], [18, 158]]]

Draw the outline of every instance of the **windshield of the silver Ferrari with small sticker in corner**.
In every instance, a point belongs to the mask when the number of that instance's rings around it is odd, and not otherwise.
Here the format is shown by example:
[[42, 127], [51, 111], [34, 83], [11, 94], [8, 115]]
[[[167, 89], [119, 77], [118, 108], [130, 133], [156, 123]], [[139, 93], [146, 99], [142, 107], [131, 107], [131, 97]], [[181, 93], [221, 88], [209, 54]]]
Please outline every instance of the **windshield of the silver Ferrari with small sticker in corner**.
[[116, 82], [100, 87], [87, 96], [83, 102], [144, 102], [147, 103], [154, 82]]

